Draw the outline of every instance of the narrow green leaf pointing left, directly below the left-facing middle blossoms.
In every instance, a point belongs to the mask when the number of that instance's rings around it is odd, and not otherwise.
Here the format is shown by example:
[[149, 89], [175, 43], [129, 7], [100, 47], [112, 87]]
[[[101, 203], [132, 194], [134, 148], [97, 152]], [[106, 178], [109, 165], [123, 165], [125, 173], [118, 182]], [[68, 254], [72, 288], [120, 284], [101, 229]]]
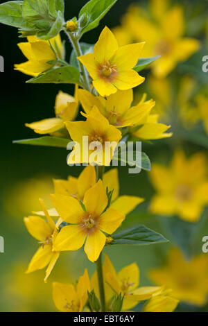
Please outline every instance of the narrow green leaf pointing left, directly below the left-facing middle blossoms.
[[67, 148], [67, 144], [71, 139], [44, 136], [40, 138], [21, 139], [12, 141], [13, 144], [37, 145], [37, 146], [51, 146]]

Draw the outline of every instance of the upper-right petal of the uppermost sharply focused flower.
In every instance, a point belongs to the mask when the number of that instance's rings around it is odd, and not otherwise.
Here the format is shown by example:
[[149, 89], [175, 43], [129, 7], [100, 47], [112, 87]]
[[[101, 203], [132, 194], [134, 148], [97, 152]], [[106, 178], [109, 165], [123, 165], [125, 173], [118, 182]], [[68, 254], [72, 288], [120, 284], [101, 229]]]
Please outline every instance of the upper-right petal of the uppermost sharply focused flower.
[[144, 44], [144, 42], [141, 42], [121, 46], [114, 54], [111, 62], [116, 65], [119, 71], [134, 68], [137, 65]]

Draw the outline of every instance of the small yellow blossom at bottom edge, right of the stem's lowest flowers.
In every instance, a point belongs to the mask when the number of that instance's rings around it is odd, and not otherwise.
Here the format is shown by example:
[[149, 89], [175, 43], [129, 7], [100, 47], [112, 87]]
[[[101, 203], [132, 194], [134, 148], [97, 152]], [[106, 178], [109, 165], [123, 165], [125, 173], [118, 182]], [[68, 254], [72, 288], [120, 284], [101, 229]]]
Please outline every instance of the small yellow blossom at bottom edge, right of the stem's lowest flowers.
[[153, 293], [152, 297], [146, 302], [143, 312], [173, 312], [177, 307], [179, 300], [173, 298], [173, 290], [159, 289]]

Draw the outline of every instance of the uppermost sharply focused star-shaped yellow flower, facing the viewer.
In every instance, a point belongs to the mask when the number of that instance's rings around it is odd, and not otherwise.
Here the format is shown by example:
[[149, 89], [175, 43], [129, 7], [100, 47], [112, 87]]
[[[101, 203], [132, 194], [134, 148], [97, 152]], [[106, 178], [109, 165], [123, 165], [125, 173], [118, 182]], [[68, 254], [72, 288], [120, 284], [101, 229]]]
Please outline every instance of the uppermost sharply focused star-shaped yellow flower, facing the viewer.
[[78, 57], [93, 79], [101, 96], [109, 96], [117, 89], [125, 90], [144, 82], [132, 68], [137, 65], [144, 42], [119, 47], [114, 34], [105, 27], [94, 46], [94, 53]]

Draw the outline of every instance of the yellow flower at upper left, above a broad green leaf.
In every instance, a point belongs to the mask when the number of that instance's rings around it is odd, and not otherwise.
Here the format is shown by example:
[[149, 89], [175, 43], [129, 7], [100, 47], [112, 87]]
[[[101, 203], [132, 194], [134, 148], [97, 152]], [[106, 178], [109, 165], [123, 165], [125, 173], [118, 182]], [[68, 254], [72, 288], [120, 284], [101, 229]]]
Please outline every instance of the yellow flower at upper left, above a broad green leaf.
[[48, 63], [49, 61], [56, 60], [56, 56], [61, 59], [64, 55], [59, 34], [49, 41], [39, 40], [36, 36], [28, 36], [27, 39], [28, 42], [21, 42], [17, 45], [28, 61], [15, 65], [15, 70], [26, 75], [37, 77], [53, 67]]

